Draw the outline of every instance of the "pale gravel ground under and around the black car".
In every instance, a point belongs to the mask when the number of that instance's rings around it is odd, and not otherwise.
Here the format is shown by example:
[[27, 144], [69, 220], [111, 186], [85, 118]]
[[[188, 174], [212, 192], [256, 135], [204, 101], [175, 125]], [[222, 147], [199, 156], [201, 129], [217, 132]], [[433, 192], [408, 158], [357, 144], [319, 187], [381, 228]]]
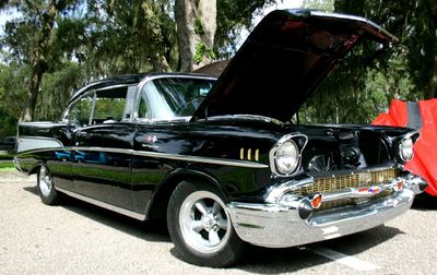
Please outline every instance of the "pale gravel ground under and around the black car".
[[[35, 178], [0, 174], [1, 274], [437, 274], [437, 200], [385, 226], [305, 248], [252, 249], [227, 270], [179, 260], [165, 224], [140, 223], [69, 199], [46, 206]], [[347, 263], [321, 256], [333, 251]], [[319, 251], [319, 252], [318, 252]], [[359, 272], [356, 261], [374, 268]]]

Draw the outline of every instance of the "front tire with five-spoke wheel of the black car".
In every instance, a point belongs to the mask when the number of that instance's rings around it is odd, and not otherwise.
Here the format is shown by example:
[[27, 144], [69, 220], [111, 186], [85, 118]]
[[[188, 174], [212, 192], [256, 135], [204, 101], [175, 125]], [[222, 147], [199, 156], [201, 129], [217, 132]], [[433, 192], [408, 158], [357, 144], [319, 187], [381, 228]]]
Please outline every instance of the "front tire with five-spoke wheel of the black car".
[[170, 238], [182, 260], [203, 266], [235, 263], [247, 247], [235, 232], [224, 195], [211, 184], [182, 181], [167, 208]]

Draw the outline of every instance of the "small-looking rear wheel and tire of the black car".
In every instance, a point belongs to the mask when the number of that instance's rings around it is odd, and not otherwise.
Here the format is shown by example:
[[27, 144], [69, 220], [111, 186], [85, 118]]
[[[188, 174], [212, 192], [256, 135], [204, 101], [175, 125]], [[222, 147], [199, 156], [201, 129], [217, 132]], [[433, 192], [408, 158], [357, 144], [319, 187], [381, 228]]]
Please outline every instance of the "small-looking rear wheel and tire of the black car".
[[38, 170], [37, 189], [44, 204], [55, 205], [59, 202], [59, 193], [55, 189], [50, 170], [45, 165], [42, 165]]

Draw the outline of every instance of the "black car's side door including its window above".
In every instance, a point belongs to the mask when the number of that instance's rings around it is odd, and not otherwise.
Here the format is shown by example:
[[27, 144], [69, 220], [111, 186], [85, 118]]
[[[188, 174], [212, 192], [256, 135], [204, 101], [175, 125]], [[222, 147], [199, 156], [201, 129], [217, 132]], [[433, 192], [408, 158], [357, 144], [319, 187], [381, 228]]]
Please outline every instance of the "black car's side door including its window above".
[[135, 128], [130, 120], [134, 87], [93, 91], [88, 112], [73, 133], [74, 190], [86, 198], [133, 210], [131, 163]]

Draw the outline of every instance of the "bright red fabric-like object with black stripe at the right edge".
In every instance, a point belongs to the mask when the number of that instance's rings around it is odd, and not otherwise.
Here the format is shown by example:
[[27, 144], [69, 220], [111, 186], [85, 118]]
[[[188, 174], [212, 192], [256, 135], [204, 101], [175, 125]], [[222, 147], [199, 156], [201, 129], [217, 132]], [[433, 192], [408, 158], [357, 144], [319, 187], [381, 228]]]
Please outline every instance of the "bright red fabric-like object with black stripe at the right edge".
[[[420, 116], [422, 119], [421, 138], [414, 144], [414, 158], [405, 164], [405, 169], [422, 176], [428, 187], [425, 189], [430, 195], [437, 196], [437, 99], [420, 100]], [[410, 116], [410, 117], [409, 117]], [[398, 99], [391, 101], [389, 112], [380, 113], [371, 124], [408, 127], [413, 113], [409, 113], [408, 104]]]

